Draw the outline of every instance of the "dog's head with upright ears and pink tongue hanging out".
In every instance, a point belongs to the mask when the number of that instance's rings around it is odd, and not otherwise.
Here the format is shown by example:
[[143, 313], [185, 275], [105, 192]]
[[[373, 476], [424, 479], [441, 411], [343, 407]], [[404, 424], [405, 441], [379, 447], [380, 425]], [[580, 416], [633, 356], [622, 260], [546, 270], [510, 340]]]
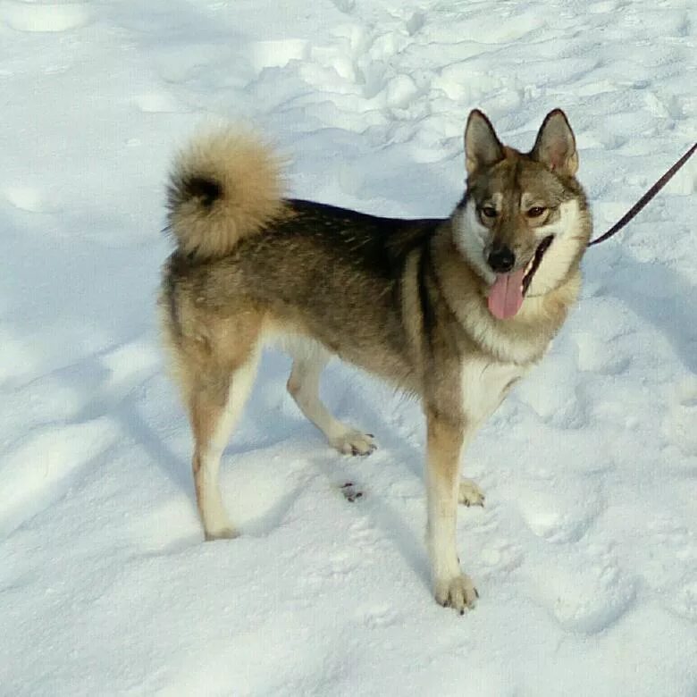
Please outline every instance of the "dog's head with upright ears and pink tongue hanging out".
[[467, 189], [453, 219], [455, 243], [487, 284], [491, 315], [508, 319], [526, 295], [548, 293], [575, 272], [591, 237], [584, 189], [575, 179], [574, 133], [555, 109], [524, 154], [503, 146], [475, 109], [465, 153]]

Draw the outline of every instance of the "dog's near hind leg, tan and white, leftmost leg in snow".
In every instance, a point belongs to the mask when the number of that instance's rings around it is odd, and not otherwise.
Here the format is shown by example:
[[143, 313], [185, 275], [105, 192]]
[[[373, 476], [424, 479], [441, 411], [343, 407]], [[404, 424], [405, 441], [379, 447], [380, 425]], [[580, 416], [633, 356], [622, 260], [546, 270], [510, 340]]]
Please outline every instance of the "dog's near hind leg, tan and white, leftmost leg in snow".
[[252, 388], [257, 363], [258, 353], [253, 348], [231, 371], [216, 365], [197, 374], [190, 390], [189, 411], [196, 441], [192, 468], [206, 540], [237, 536], [223, 506], [218, 473], [223, 450]]

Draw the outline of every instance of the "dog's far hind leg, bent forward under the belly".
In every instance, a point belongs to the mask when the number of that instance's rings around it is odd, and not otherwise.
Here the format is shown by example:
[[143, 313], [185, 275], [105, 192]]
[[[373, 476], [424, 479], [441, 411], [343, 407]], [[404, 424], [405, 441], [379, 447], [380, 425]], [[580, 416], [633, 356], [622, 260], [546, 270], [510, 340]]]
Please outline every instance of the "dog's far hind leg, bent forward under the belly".
[[293, 367], [288, 379], [288, 391], [300, 411], [324, 433], [333, 448], [345, 455], [370, 455], [376, 448], [373, 436], [362, 433], [334, 418], [319, 396], [319, 381], [329, 354], [312, 344], [290, 346]]

